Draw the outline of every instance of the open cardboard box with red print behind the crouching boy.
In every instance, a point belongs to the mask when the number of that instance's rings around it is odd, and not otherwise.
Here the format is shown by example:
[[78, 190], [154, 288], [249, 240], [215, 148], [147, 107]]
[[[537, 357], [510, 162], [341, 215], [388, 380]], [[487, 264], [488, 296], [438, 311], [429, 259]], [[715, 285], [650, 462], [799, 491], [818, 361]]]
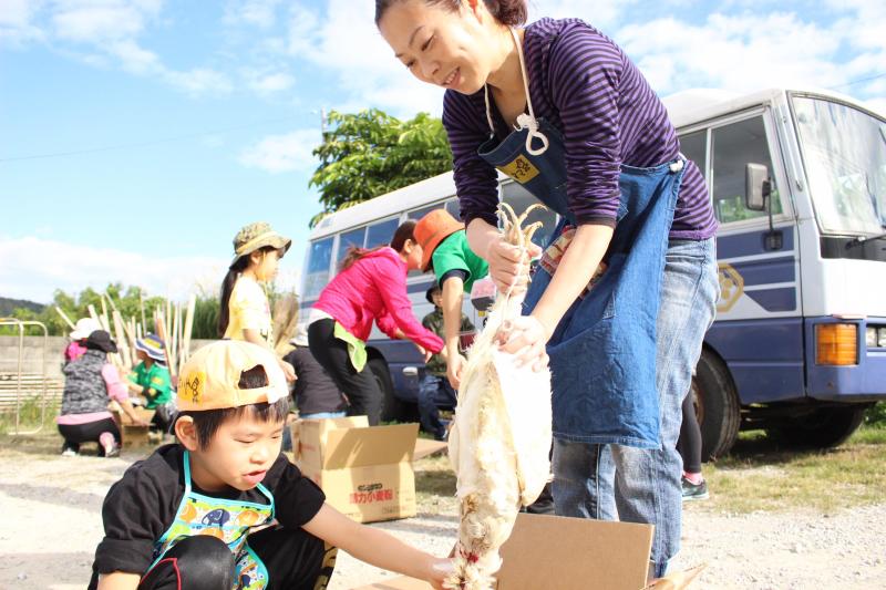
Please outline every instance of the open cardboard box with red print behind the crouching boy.
[[415, 516], [418, 424], [369, 427], [365, 416], [302, 420], [296, 463], [327, 501], [358, 522]]

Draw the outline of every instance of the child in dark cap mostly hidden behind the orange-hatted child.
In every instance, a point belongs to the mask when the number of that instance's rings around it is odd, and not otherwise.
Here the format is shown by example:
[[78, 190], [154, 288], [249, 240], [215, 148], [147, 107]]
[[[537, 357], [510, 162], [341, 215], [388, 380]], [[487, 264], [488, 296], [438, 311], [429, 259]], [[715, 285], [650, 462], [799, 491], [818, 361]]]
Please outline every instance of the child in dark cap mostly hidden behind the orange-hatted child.
[[[434, 304], [434, 311], [429, 313], [422, 320], [422, 325], [434, 332], [439, 337], [443, 337], [443, 291], [437, 284], [432, 286], [424, 293], [425, 299]], [[474, 324], [467, 319], [467, 315], [462, 313], [461, 332], [473, 332]], [[440, 355], [434, 354], [431, 360], [425, 363], [425, 372], [421, 383], [419, 383], [419, 418], [422, 423], [422, 428], [425, 432], [433, 434], [437, 441], [446, 439], [446, 427], [440, 422], [440, 410], [437, 402], [449, 404], [455, 407], [457, 397], [455, 390], [450, 385], [446, 379], [446, 361]]]

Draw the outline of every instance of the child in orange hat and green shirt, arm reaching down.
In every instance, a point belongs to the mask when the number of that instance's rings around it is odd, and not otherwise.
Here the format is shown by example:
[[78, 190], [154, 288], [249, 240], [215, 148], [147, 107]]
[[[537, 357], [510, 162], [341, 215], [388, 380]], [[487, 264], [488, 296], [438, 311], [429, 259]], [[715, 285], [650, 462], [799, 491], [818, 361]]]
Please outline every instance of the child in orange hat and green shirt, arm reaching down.
[[415, 240], [422, 247], [422, 270], [433, 270], [443, 292], [443, 341], [446, 345], [446, 376], [459, 389], [465, 360], [459, 352], [462, 299], [474, 281], [490, 273], [490, 266], [467, 244], [464, 224], [446, 211], [434, 209], [415, 225]]

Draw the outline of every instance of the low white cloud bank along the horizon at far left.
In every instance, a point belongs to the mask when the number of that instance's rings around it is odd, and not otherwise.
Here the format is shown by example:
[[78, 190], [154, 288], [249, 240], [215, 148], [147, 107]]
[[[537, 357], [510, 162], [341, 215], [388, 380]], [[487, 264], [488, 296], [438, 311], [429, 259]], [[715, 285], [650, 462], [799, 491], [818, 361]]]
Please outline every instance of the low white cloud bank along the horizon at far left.
[[0, 236], [0, 294], [39, 302], [51, 301], [55, 289], [80, 292], [114, 281], [184, 299], [195, 289], [215, 289], [230, 262], [212, 257], [158, 258], [34, 236]]

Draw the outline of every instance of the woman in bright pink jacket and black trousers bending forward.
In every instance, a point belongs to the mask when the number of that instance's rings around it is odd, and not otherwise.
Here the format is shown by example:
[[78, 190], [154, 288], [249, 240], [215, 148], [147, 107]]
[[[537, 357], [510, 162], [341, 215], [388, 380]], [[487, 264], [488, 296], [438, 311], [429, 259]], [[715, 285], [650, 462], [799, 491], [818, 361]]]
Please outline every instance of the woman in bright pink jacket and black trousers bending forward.
[[341, 272], [326, 286], [308, 318], [308, 343], [317, 362], [348, 395], [348, 414], [365, 415], [370, 426], [381, 420], [382, 392], [367, 366], [365, 342], [374, 320], [394, 339], [412, 340], [424, 355], [443, 350], [443, 341], [412, 313], [406, 272], [422, 263], [415, 221], [401, 224], [390, 247], [351, 248]]

